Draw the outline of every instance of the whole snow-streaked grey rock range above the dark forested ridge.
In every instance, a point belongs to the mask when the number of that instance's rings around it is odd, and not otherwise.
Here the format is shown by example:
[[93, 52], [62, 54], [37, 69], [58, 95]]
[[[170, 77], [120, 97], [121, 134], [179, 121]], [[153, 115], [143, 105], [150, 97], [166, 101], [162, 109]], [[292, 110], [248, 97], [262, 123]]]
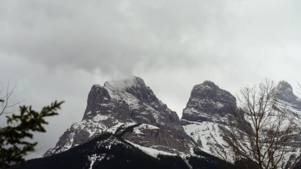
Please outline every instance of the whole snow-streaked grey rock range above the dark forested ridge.
[[[292, 86], [281, 81], [277, 93], [279, 106], [288, 108], [289, 116], [301, 120], [301, 99], [293, 93]], [[210, 81], [193, 87], [181, 120], [141, 78], [96, 84], [89, 92], [82, 121], [67, 129], [44, 157], [107, 132], [139, 148], [169, 155], [186, 157], [194, 154], [193, 149], [214, 154], [212, 145], [227, 145], [220, 127], [227, 127], [226, 122], [231, 120], [230, 108], [237, 108], [236, 98]], [[301, 135], [296, 134], [293, 142], [300, 147], [300, 140]]]

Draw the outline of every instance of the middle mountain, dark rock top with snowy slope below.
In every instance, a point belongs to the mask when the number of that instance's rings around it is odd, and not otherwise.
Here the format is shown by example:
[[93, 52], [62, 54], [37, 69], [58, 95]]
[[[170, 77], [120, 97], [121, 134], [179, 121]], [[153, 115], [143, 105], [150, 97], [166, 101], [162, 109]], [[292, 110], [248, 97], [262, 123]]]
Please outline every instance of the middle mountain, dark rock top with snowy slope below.
[[201, 150], [212, 153], [212, 144], [225, 144], [219, 126], [226, 125], [230, 108], [236, 108], [236, 98], [213, 82], [205, 81], [193, 87], [181, 121]]

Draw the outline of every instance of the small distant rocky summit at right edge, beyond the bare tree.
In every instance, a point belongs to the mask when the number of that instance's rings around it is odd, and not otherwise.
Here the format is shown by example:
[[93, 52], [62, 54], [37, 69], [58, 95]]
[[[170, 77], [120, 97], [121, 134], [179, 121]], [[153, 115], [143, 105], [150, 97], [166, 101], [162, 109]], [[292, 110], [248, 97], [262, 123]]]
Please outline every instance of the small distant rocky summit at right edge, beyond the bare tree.
[[277, 98], [290, 104], [301, 106], [301, 100], [294, 92], [293, 87], [286, 81], [280, 81], [277, 85]]

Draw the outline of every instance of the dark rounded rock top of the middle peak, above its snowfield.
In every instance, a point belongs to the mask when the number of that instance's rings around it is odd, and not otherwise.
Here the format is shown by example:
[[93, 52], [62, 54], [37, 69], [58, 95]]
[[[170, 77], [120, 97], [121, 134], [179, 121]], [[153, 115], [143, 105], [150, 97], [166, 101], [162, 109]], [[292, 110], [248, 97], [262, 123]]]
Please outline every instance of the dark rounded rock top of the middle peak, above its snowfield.
[[227, 113], [230, 106], [236, 107], [236, 98], [211, 81], [193, 87], [182, 119], [203, 122], [214, 121], [214, 116]]

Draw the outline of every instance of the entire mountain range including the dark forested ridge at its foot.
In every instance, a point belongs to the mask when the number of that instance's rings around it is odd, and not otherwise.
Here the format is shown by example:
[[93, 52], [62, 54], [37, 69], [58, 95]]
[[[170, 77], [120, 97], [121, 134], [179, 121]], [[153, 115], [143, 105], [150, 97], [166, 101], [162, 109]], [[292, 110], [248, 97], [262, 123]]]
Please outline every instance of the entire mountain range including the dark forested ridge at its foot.
[[[279, 82], [277, 98], [288, 116], [301, 120], [301, 99], [289, 83]], [[211, 81], [193, 87], [181, 120], [139, 77], [95, 84], [82, 121], [43, 158], [16, 168], [230, 169], [212, 151], [227, 148], [220, 127], [228, 127], [230, 109], [238, 109], [236, 98]], [[300, 150], [300, 129], [291, 141], [292, 153]]]

